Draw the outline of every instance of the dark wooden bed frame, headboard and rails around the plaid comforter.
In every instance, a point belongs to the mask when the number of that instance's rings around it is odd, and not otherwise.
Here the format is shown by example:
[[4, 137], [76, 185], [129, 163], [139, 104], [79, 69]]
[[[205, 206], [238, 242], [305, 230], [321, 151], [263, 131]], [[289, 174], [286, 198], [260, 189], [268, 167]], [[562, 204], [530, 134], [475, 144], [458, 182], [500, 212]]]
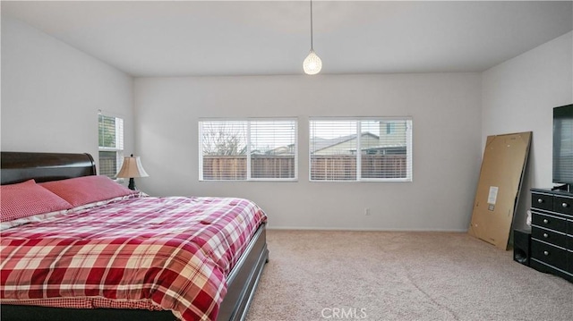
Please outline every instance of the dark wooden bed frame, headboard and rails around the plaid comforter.
[[[90, 154], [2, 152], [0, 155], [2, 185], [25, 182], [49, 182], [95, 175], [96, 164]], [[269, 260], [266, 226], [255, 232], [244, 254], [227, 276], [227, 294], [221, 302], [218, 320], [244, 320]], [[149, 311], [122, 308], [47, 308], [3, 304], [0, 318], [9, 320], [176, 320], [170, 310]]]

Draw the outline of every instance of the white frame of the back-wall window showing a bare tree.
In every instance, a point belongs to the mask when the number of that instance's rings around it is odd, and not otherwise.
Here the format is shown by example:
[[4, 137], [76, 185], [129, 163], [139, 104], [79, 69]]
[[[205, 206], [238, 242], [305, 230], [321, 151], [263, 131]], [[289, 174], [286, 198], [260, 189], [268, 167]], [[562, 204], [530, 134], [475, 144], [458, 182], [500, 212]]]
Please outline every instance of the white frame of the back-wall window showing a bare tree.
[[[246, 128], [246, 178], [244, 180], [234, 179], [234, 180], [208, 180], [203, 177], [203, 135], [202, 135], [202, 123], [203, 122], [247, 122]], [[252, 122], [294, 122], [294, 177], [287, 178], [277, 178], [277, 177], [252, 177], [252, 144], [251, 144], [251, 123]], [[199, 149], [199, 182], [298, 182], [298, 118], [297, 117], [243, 117], [243, 118], [232, 118], [232, 117], [205, 117], [200, 118], [197, 122], [198, 124], [198, 149]]]

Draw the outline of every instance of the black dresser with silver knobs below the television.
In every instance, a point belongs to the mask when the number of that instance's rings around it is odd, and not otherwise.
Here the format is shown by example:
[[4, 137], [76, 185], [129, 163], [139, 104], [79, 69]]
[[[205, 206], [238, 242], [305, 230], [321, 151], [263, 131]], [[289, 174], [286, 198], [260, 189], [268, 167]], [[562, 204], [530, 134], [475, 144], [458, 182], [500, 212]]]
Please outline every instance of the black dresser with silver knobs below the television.
[[531, 267], [573, 282], [573, 194], [531, 190]]

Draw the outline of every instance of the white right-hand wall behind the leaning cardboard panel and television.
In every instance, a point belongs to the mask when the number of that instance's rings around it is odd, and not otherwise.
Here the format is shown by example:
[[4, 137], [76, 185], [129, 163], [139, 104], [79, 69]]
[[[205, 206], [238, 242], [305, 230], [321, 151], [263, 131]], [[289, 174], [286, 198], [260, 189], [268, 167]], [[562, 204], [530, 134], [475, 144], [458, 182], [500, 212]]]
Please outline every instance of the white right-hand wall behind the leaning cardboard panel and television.
[[531, 187], [552, 187], [552, 108], [573, 102], [573, 31], [483, 72], [482, 149], [489, 135], [533, 131], [514, 225]]

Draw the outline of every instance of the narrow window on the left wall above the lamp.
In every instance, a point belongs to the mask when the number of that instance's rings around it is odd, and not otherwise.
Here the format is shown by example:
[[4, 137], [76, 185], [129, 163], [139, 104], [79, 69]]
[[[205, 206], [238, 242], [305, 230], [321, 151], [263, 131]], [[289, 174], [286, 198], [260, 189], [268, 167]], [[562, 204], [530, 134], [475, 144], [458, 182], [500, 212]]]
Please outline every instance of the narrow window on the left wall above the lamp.
[[124, 120], [98, 114], [99, 174], [115, 179], [124, 159]]

